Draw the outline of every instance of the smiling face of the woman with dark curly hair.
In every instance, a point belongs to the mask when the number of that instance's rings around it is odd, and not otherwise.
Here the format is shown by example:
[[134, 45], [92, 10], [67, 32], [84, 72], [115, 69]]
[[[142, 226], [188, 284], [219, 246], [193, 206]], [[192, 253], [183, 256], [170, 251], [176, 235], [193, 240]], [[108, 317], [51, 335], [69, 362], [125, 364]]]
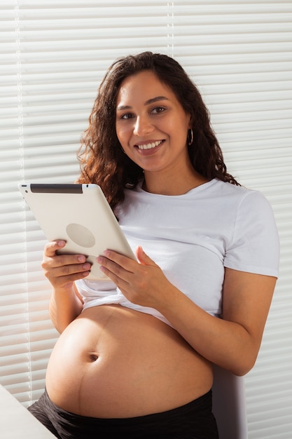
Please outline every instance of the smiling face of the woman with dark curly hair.
[[153, 72], [123, 81], [116, 102], [116, 133], [125, 154], [145, 175], [162, 170], [183, 173], [189, 161], [188, 128], [190, 116]]

